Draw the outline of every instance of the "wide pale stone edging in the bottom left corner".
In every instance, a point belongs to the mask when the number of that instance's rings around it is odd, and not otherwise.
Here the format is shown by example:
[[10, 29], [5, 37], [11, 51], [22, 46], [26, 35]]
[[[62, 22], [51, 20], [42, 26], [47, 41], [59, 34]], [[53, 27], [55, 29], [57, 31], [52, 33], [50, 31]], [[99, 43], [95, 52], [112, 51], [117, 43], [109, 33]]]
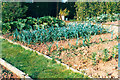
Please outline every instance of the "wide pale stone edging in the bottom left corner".
[[11, 64], [7, 63], [5, 60], [0, 58], [0, 64], [2, 66], [4, 66], [5, 68], [7, 68], [8, 70], [10, 70], [11, 72], [13, 72], [14, 74], [16, 74], [19, 78], [22, 79], [29, 79], [29, 80], [33, 80], [31, 77], [29, 77], [28, 75], [26, 75], [24, 72], [20, 71], [19, 69], [17, 69], [16, 67], [12, 66]]

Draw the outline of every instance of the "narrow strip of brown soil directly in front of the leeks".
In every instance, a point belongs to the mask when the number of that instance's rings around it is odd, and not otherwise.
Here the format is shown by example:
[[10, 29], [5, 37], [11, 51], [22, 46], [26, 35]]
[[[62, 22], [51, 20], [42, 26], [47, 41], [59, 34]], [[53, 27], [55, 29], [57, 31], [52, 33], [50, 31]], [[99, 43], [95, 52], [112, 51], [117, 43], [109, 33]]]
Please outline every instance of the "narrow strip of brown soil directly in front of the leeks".
[[[10, 40], [13, 40], [13, 36], [9, 36], [7, 37], [6, 35], [3, 35], [5, 38], [8, 38]], [[89, 41], [90, 43], [99, 43], [99, 42], [103, 42], [103, 41], [107, 41], [107, 40], [113, 40], [116, 38], [116, 36], [111, 35], [111, 33], [106, 33], [106, 34], [101, 34], [101, 35], [95, 35], [92, 36], [93, 38]], [[112, 37], [112, 38], [111, 38]], [[71, 46], [82, 46], [83, 45], [83, 40], [77, 40], [77, 39], [67, 39], [67, 40], [61, 40], [61, 41], [54, 41], [52, 42], [46, 42], [44, 43], [36, 43], [36, 44], [27, 44], [27, 43], [22, 43], [20, 41], [17, 41], [17, 43], [20, 43], [22, 45], [25, 45], [27, 47], [30, 47], [34, 50], [37, 50], [41, 53], [49, 53], [57, 50], [57, 49], [68, 49]], [[77, 43], [77, 44], [76, 44]], [[49, 49], [50, 48], [50, 49]]]

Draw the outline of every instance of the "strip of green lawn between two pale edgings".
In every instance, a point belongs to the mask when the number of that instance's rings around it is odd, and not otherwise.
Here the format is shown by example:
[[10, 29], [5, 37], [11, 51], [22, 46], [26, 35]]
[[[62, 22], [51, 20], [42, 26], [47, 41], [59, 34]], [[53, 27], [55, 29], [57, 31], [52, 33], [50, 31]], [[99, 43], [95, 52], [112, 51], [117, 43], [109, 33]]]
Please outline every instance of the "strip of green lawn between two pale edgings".
[[28, 74], [31, 78], [88, 78], [80, 73], [68, 70], [54, 60], [46, 59], [35, 52], [25, 50], [4, 39], [2, 41], [2, 59]]

